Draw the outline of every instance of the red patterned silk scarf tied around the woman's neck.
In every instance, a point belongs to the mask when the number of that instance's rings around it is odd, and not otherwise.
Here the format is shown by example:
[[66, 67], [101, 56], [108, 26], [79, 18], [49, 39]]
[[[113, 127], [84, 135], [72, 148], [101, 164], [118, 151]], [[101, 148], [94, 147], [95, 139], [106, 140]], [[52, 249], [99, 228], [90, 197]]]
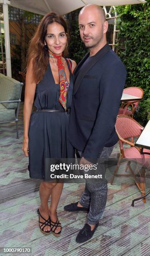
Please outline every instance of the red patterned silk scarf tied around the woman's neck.
[[60, 97], [59, 101], [62, 107], [66, 110], [66, 103], [67, 103], [67, 91], [69, 88], [69, 82], [66, 77], [65, 67], [62, 63], [62, 55], [53, 54], [49, 51], [49, 56], [51, 58], [57, 59], [58, 62], [58, 71], [59, 71], [59, 78], [60, 78]]

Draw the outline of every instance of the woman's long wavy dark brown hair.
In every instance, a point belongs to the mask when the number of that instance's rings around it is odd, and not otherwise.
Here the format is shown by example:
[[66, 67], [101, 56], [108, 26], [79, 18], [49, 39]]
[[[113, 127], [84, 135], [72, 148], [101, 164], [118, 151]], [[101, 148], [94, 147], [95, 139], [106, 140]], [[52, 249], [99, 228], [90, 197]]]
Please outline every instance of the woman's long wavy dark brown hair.
[[[57, 13], [47, 13], [41, 20], [37, 31], [30, 41], [27, 54], [27, 68], [30, 60], [33, 63], [33, 80], [38, 83], [42, 80], [47, 65], [49, 63], [48, 50], [45, 47], [45, 36], [47, 34], [47, 26], [53, 22], [57, 22], [65, 30], [68, 37], [67, 24], [65, 20]], [[64, 53], [63, 53], [64, 55]]]

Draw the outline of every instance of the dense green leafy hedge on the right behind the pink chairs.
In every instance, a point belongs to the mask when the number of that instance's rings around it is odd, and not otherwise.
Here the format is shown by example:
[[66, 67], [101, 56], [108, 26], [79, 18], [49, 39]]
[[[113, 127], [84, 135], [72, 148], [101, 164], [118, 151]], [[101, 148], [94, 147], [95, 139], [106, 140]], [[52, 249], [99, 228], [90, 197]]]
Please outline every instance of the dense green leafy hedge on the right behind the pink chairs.
[[146, 4], [117, 7], [120, 17], [117, 54], [127, 69], [126, 87], [144, 90], [134, 118], [142, 125], [150, 118], [150, 0]]

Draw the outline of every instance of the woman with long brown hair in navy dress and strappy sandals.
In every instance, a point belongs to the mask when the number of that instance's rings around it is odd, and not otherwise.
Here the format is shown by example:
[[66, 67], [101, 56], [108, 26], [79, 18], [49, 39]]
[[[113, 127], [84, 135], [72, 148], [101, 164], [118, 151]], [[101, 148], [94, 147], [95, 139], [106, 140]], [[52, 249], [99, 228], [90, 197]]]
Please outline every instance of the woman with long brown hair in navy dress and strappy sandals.
[[[76, 63], [62, 57], [67, 35], [65, 20], [57, 13], [42, 18], [30, 42], [25, 82], [23, 151], [29, 156], [30, 178], [42, 179], [37, 209], [40, 231], [55, 236], [61, 233], [56, 210], [63, 184], [48, 181], [47, 159], [75, 157], [67, 129]], [[31, 114], [34, 97], [37, 110]]]

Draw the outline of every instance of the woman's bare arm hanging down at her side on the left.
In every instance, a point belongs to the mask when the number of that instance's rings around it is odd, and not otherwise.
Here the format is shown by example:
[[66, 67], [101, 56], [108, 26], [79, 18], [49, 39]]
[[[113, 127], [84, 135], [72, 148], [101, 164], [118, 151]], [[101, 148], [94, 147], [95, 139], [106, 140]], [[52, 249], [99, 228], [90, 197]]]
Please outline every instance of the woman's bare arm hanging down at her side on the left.
[[28, 130], [30, 123], [30, 115], [32, 112], [32, 105], [35, 96], [36, 83], [33, 81], [33, 64], [32, 60], [29, 63], [26, 79], [25, 79], [25, 102], [23, 108], [23, 121], [24, 121], [24, 133], [23, 133], [23, 151], [25, 156], [28, 156]]

